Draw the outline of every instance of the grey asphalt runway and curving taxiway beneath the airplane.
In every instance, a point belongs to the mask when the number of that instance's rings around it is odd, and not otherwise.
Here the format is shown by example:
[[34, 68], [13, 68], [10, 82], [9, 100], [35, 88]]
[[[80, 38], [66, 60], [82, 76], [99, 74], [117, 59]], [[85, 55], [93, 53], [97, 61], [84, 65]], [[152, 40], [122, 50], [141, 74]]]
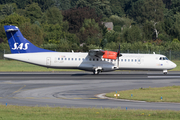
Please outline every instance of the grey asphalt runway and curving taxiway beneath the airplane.
[[[98, 98], [98, 94], [141, 87], [180, 85], [180, 72], [9, 72], [0, 73], [0, 103], [23, 106], [180, 110], [179, 103]], [[168, 94], [168, 93], [167, 93]]]

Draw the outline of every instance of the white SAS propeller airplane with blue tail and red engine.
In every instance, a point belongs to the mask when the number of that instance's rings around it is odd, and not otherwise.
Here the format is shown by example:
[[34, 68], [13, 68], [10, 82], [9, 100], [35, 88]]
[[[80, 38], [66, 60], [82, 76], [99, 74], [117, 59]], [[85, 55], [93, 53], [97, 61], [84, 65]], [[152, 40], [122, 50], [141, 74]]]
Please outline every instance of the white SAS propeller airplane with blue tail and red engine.
[[23, 37], [17, 26], [5, 25], [11, 54], [5, 58], [31, 63], [47, 68], [80, 69], [93, 74], [115, 70], [155, 70], [167, 74], [176, 64], [161, 54], [127, 54], [104, 51], [101, 49], [89, 52], [55, 52], [39, 48]]

